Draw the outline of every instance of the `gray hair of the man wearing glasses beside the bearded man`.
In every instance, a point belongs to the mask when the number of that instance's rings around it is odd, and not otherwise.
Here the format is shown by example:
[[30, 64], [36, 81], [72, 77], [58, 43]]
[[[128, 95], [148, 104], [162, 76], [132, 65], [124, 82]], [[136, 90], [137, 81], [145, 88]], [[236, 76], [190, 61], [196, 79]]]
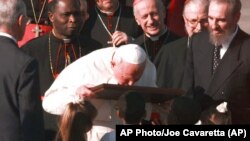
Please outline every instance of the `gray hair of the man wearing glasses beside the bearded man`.
[[209, 0], [186, 0], [183, 8], [183, 15], [187, 13], [192, 4], [204, 8], [208, 12]]

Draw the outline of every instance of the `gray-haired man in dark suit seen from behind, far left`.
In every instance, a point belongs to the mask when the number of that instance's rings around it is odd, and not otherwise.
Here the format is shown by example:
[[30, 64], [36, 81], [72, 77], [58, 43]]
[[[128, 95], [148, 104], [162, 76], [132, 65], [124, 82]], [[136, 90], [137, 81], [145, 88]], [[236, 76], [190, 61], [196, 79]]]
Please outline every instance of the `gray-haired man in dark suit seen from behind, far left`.
[[0, 140], [44, 141], [35, 59], [18, 49], [28, 18], [21, 0], [0, 0]]

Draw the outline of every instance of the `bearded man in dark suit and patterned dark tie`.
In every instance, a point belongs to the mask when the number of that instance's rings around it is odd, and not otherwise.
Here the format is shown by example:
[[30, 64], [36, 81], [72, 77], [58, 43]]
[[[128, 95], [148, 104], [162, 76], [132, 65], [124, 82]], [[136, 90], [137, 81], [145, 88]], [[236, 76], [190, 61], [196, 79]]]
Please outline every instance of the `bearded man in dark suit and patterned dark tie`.
[[232, 124], [250, 124], [250, 36], [239, 26], [240, 0], [210, 0], [209, 32], [194, 35], [184, 88], [201, 86], [224, 100]]

